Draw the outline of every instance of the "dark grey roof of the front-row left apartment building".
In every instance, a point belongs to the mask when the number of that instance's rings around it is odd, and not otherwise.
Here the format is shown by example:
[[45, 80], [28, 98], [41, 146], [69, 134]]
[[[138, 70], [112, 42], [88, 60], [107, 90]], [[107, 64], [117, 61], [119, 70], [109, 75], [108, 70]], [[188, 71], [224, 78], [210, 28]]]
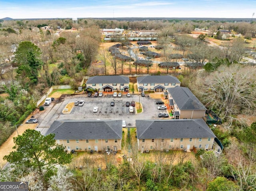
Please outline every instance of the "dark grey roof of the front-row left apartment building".
[[54, 121], [48, 134], [55, 140], [122, 139], [122, 120], [62, 120]]

